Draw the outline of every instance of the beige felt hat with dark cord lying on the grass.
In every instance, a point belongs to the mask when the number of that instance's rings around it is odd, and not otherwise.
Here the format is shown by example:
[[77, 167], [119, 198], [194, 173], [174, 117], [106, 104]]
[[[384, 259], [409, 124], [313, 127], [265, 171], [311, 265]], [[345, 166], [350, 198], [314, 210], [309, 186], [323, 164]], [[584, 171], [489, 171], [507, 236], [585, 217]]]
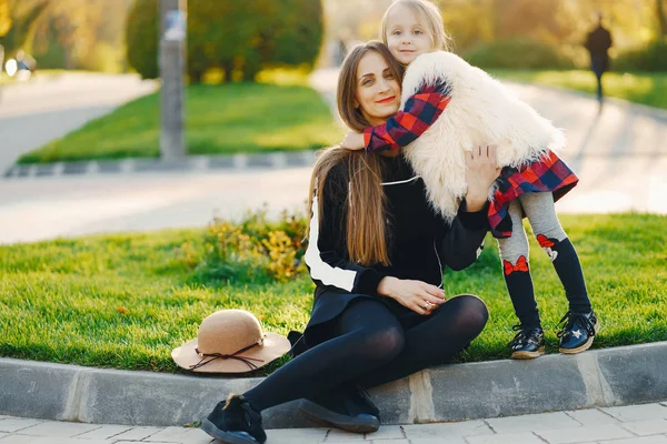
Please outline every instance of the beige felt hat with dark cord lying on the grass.
[[245, 373], [287, 353], [287, 337], [265, 333], [255, 315], [245, 310], [220, 310], [207, 316], [197, 339], [171, 352], [181, 367], [202, 373]]

